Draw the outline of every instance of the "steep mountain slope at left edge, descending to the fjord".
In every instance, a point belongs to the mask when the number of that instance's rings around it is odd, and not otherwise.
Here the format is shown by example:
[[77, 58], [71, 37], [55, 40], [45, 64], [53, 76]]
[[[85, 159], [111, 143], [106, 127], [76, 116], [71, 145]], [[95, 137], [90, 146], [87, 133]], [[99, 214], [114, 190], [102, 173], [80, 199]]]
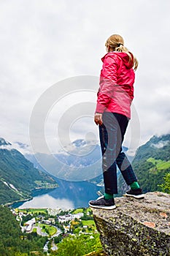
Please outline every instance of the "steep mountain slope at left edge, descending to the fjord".
[[52, 176], [37, 170], [11, 143], [0, 138], [0, 204], [26, 200], [32, 189], [56, 186]]

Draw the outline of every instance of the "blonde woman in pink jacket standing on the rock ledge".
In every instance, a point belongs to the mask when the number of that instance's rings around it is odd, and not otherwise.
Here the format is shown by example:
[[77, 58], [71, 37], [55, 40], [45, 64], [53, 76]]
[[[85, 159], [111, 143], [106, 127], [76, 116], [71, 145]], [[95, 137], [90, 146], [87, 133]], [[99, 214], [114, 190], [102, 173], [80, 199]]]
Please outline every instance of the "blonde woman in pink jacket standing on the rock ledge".
[[122, 143], [128, 121], [131, 118], [131, 102], [134, 98], [134, 70], [138, 61], [124, 46], [123, 37], [113, 34], [106, 42], [107, 54], [101, 59], [103, 67], [94, 121], [99, 125], [104, 176], [103, 197], [91, 200], [94, 208], [115, 208], [114, 194], [117, 194], [117, 166], [131, 189], [126, 196], [142, 198], [134, 170], [125, 153]]

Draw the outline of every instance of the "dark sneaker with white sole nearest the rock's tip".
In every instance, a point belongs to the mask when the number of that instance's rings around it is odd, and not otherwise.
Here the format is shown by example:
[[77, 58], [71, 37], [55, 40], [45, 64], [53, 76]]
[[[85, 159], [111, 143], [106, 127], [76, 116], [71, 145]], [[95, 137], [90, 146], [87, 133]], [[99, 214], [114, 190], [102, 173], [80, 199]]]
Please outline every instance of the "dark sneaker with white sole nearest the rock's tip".
[[101, 208], [107, 210], [112, 210], [116, 208], [114, 198], [105, 199], [104, 196], [98, 197], [97, 200], [91, 200], [88, 204], [90, 207], [93, 208]]

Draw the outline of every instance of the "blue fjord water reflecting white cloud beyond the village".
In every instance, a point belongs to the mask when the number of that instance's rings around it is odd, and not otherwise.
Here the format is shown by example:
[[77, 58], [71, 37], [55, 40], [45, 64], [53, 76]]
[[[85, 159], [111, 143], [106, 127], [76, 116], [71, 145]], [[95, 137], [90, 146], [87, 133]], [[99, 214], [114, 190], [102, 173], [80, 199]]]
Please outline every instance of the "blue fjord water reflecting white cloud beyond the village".
[[88, 201], [98, 197], [101, 187], [88, 181], [63, 181], [57, 179], [56, 189], [35, 190], [33, 199], [13, 204], [13, 208], [61, 208], [88, 207]]

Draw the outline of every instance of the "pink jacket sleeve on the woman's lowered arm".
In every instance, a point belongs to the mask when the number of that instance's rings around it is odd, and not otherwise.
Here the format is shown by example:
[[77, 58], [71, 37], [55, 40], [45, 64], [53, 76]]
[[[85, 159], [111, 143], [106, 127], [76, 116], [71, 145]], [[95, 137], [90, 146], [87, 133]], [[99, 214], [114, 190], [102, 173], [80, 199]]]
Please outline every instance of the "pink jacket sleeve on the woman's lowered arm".
[[117, 84], [117, 59], [116, 56], [106, 55], [101, 69], [100, 88], [98, 89], [98, 99], [96, 113], [103, 113], [113, 96], [115, 85]]

